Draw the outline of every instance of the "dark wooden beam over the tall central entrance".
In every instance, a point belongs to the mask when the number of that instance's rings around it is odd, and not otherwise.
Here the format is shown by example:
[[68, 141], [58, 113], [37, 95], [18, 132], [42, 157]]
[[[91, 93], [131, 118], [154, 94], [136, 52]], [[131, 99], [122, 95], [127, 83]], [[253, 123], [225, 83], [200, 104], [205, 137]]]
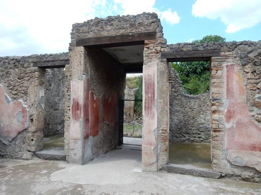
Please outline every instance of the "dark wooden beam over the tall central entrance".
[[105, 48], [105, 47], [141, 45], [144, 44], [144, 40], [152, 40], [152, 39], [156, 39], [156, 32], [82, 38], [76, 40], [76, 47], [85, 46], [88, 48], [93, 48], [93, 47]]

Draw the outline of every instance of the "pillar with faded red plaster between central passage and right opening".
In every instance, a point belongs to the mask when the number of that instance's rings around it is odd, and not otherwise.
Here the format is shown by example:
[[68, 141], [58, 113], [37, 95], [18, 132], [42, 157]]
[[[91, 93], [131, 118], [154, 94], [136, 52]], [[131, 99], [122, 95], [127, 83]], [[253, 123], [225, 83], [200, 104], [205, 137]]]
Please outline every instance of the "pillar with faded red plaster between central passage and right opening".
[[[158, 34], [162, 36], [161, 33]], [[144, 171], [158, 171], [168, 162], [169, 90], [168, 62], [160, 58], [164, 38], [145, 41], [143, 66]]]

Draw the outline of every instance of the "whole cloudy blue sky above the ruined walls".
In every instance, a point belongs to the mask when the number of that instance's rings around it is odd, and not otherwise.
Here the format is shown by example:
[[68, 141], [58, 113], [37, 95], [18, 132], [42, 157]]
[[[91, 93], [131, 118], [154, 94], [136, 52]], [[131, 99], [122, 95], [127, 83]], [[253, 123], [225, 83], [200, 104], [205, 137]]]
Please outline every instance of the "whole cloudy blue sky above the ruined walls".
[[261, 0], [1, 0], [0, 56], [68, 51], [72, 24], [156, 12], [168, 43], [261, 40]]

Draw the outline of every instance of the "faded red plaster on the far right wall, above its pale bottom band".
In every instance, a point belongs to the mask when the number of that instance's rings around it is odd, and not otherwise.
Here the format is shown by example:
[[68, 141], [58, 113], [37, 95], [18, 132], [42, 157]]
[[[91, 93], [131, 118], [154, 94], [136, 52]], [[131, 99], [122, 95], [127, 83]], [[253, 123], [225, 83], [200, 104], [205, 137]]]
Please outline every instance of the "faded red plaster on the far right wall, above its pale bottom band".
[[226, 149], [261, 151], [261, 128], [250, 118], [246, 90], [235, 64], [226, 64]]

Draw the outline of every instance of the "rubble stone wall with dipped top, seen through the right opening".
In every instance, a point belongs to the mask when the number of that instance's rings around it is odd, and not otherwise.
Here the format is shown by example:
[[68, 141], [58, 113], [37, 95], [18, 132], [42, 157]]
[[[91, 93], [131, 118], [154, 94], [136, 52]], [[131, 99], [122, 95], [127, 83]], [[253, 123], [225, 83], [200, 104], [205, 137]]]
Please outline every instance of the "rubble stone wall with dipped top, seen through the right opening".
[[210, 142], [211, 104], [209, 92], [189, 95], [179, 74], [169, 64], [169, 140]]

